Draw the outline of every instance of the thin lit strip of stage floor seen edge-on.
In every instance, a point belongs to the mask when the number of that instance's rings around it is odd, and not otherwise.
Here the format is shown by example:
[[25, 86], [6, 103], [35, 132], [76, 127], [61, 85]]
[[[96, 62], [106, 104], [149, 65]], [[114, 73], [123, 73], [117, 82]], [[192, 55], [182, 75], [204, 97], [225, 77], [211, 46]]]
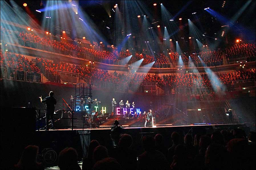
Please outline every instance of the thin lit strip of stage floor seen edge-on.
[[[215, 124], [215, 125], [180, 125], [180, 126], [157, 126], [157, 127], [124, 127], [125, 129], [140, 129], [140, 128], [177, 128], [177, 127], [214, 127], [214, 126], [239, 126], [239, 125], [244, 125], [244, 124]], [[111, 128], [73, 128], [73, 130], [110, 130]], [[49, 129], [48, 131], [63, 131], [63, 130], [72, 130], [71, 128], [68, 129], [55, 129], [51, 130]], [[47, 131], [47, 130], [37, 130], [37, 131]]]

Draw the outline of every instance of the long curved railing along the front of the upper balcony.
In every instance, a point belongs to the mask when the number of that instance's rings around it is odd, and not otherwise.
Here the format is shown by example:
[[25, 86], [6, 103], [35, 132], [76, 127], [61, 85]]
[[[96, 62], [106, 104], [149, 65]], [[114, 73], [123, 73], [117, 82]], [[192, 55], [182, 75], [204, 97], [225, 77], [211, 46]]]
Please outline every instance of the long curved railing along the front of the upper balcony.
[[[72, 57], [76, 57], [76, 58], [80, 58], [80, 59], [85, 59], [85, 60], [94, 60], [96, 62], [99, 63], [104, 63], [104, 64], [109, 64], [109, 65], [134, 65], [137, 67], [150, 67], [147, 66], [147, 64], [149, 63], [141, 63], [141, 65], [138, 65], [136, 63], [136, 61], [130, 60], [127, 61], [125, 59], [122, 60], [118, 60], [118, 59], [103, 59], [97, 56], [93, 56], [92, 53], [90, 53], [89, 51], [87, 52], [78, 52], [78, 51], [72, 51], [72, 50], [68, 50], [68, 49], [61, 49], [61, 48], [56, 48], [50, 45], [44, 45], [44, 44], [40, 44], [40, 43], [35, 43], [29, 40], [23, 40], [21, 38], [15, 38], [9, 35], [5, 35], [5, 34], [1, 34], [1, 41], [3, 42], [7, 42], [7, 43], [13, 43], [13, 44], [19, 44], [25, 47], [31, 47], [31, 48], [35, 48], [35, 49], [39, 49], [39, 50], [43, 50], [43, 51], [48, 51], [48, 52], [52, 52], [52, 53], [56, 53], [56, 54], [62, 54], [62, 55], [67, 55], [67, 56], [72, 56]], [[235, 58], [235, 59], [229, 59], [227, 60], [227, 65], [229, 64], [234, 64], [237, 62], [241, 62], [241, 61], [255, 61], [255, 56], [254, 57], [239, 57], [239, 58]], [[206, 67], [215, 67], [215, 66], [220, 66], [220, 65], [224, 65], [223, 64], [223, 60], [222, 61], [215, 61], [215, 62], [193, 62], [194, 65], [190, 65], [190, 63], [188, 61], [183, 61], [182, 67], [203, 67], [203, 65], [206, 65]], [[178, 61], [173, 61], [172, 63], [154, 63], [152, 68], [177, 68], [180, 67], [181, 65], [179, 64]]]

